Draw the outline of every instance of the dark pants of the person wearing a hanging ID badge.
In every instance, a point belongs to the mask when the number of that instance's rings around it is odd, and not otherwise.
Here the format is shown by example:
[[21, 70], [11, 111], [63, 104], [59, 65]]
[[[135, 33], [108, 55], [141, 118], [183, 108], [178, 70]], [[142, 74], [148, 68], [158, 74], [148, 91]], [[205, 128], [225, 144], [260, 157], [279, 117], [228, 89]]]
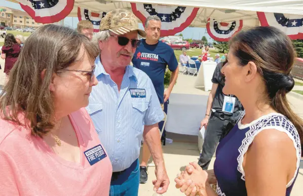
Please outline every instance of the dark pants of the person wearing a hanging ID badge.
[[216, 116], [210, 116], [205, 131], [204, 143], [202, 153], [200, 155], [198, 164], [203, 170], [207, 170], [210, 160], [215, 153], [219, 141], [226, 136], [234, 124], [230, 120], [222, 120]]

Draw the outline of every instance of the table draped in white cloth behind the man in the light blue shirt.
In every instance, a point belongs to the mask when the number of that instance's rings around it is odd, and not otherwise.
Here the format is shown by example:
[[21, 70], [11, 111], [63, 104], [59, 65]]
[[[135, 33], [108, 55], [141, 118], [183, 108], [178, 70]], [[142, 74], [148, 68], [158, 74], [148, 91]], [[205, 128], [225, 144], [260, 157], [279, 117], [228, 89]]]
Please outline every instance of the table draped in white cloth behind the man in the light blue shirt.
[[171, 93], [167, 108], [167, 132], [198, 136], [208, 95]]

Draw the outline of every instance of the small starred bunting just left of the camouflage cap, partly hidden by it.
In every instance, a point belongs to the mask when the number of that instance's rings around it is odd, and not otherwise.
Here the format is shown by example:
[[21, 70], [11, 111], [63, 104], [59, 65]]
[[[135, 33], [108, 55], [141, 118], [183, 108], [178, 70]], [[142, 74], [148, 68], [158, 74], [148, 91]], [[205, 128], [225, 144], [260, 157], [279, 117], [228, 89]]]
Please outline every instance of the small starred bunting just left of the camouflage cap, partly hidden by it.
[[106, 12], [91, 12], [88, 9], [78, 7], [78, 19], [89, 20], [94, 25], [94, 32], [99, 32], [101, 19], [106, 15]]

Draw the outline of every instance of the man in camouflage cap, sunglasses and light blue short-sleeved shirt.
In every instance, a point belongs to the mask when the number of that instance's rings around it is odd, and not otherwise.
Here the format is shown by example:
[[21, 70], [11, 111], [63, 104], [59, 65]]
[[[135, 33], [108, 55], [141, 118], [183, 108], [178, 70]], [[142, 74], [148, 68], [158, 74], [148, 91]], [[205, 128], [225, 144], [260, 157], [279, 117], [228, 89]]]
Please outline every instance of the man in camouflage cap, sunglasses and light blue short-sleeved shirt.
[[87, 111], [111, 160], [110, 195], [138, 195], [142, 135], [156, 165], [154, 190], [164, 193], [169, 185], [158, 128], [164, 115], [157, 93], [144, 72], [129, 66], [140, 43], [138, 34], [146, 36], [137, 18], [117, 9], [102, 18], [100, 32], [93, 38], [101, 50], [95, 61], [99, 83]]

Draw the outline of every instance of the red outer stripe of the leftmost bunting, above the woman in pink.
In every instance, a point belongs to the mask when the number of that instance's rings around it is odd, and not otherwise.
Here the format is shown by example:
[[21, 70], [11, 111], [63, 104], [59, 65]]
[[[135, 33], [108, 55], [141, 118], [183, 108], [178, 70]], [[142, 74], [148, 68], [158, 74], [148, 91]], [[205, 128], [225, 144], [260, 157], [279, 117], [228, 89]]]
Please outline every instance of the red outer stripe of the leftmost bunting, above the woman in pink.
[[21, 3], [19, 3], [19, 4], [20, 4], [21, 8], [32, 19], [34, 19], [35, 22], [40, 22], [40, 23], [46, 24], [46, 23], [59, 22], [60, 20], [63, 20], [65, 17], [67, 17], [68, 14], [70, 14], [70, 12], [72, 11], [74, 0], [66, 0], [66, 6], [60, 13], [58, 13], [56, 15], [52, 15], [52, 16], [45, 16], [45, 17], [36, 16], [35, 11], [32, 8], [30, 8], [27, 5], [23, 5]]

